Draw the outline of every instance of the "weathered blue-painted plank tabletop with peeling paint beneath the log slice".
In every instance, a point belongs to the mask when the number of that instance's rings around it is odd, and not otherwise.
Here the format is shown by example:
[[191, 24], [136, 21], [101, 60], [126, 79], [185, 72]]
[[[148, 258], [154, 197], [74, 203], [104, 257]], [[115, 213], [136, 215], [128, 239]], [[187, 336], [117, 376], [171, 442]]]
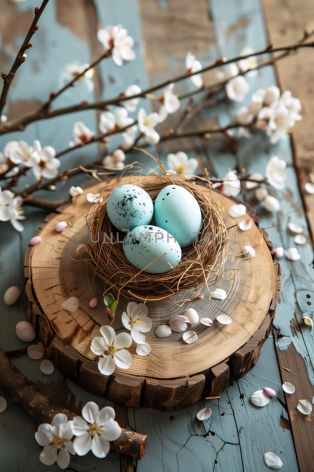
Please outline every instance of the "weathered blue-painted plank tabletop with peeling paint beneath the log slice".
[[[81, 2], [75, 2], [75, 5]], [[70, 0], [63, 0], [62, 4], [72, 5]], [[152, 82], [173, 75], [178, 67], [184, 67], [184, 56], [190, 48], [193, 53], [197, 53], [204, 64], [217, 57], [231, 56], [238, 54], [242, 47], [250, 45], [254, 49], [260, 49], [267, 43], [267, 30], [264, 23], [263, 11], [258, 0], [239, 0], [239, 1], [195, 1], [193, 8], [186, 13], [189, 2], [174, 0], [159, 0], [159, 2], [149, 0], [135, 0], [126, 2], [117, 0], [110, 2], [108, 8], [107, 2], [95, 0], [98, 21], [100, 25], [116, 24], [121, 22], [135, 40], [135, 51], [137, 61], [128, 63], [124, 68], [116, 67], [112, 61], [104, 61], [100, 66], [100, 73], [103, 82], [106, 83], [104, 96], [110, 97], [120, 93], [128, 84], [137, 83], [144, 88]], [[14, 52], [21, 42], [18, 37], [17, 19], [19, 25], [24, 27], [24, 18], [27, 14], [33, 12], [36, 5], [34, 0], [19, 2], [13, 4], [9, 0], [1, 0], [2, 24], [6, 35], [2, 36], [1, 49], [1, 70], [8, 67], [14, 57]], [[81, 8], [81, 7], [80, 7]], [[281, 11], [279, 0], [273, 2], [273, 8]], [[72, 13], [73, 9], [71, 10]], [[157, 31], [157, 22], [154, 17], [149, 20], [149, 27], [145, 27], [148, 20], [145, 16], [150, 11], [156, 11], [159, 17], [159, 24], [164, 26], [165, 21], [168, 29], [164, 28], [164, 36], [170, 34], [171, 41], [161, 37]], [[8, 13], [7, 13], [8, 12]], [[278, 13], [279, 14], [279, 13]], [[274, 17], [278, 17], [274, 14]], [[296, 13], [297, 14], [297, 13]], [[6, 21], [6, 16], [10, 18], [10, 23]], [[182, 16], [187, 16], [182, 18]], [[82, 20], [86, 21], [85, 15]], [[22, 25], [21, 25], [22, 23]], [[155, 27], [156, 24], [156, 27]], [[81, 25], [81, 24], [80, 24]], [[181, 26], [180, 26], [181, 25]], [[201, 25], [201, 27], [199, 26]], [[81, 25], [83, 27], [83, 23]], [[180, 26], [180, 28], [178, 28]], [[89, 62], [90, 45], [80, 37], [80, 31], [75, 35], [70, 25], [61, 25], [56, 19], [56, 1], [50, 2], [45, 10], [45, 18], [41, 23], [41, 28], [36, 36], [37, 43], [34, 43], [32, 51], [20, 68], [20, 75], [16, 77], [15, 87], [10, 91], [10, 101], [8, 115], [13, 116], [19, 110], [27, 110], [34, 100], [44, 101], [47, 98], [47, 91], [58, 88], [58, 76], [65, 65], [73, 60], [80, 62]], [[85, 26], [84, 26], [85, 27]], [[301, 25], [302, 27], [302, 25]], [[180, 31], [180, 34], [177, 32]], [[186, 34], [186, 37], [185, 37]], [[185, 42], [183, 47], [181, 40]], [[299, 32], [297, 38], [299, 37]], [[157, 49], [159, 46], [159, 49]], [[152, 55], [152, 49], [155, 49]], [[176, 51], [179, 51], [178, 53]], [[28, 60], [30, 59], [30, 60]], [[163, 68], [158, 66], [158, 59], [162, 60]], [[150, 63], [153, 68], [155, 65], [155, 76], [149, 76], [144, 67], [144, 60]], [[293, 59], [290, 59], [291, 64]], [[292, 67], [292, 65], [291, 65]], [[53, 73], [52, 73], [53, 71]], [[126, 73], [125, 73], [126, 71]], [[264, 87], [266, 84], [273, 84], [275, 77], [272, 69], [263, 69], [256, 78], [250, 79], [251, 91]], [[35, 84], [35, 86], [34, 86]], [[298, 93], [297, 93], [298, 95]], [[66, 106], [83, 99], [91, 100], [93, 93], [87, 92], [84, 85], [69, 90], [64, 97], [59, 99], [57, 105]], [[18, 104], [18, 105], [17, 105]], [[233, 116], [232, 106], [221, 107], [218, 110], [212, 110], [210, 116], [208, 112], [202, 114], [204, 122], [214, 120], [219, 114], [219, 122], [226, 124], [230, 122]], [[63, 149], [72, 135], [72, 127], [75, 121], [83, 120], [91, 129], [96, 129], [96, 113], [84, 112], [77, 116], [62, 117], [60, 120], [53, 119], [49, 123], [40, 122], [27, 128], [23, 136], [29, 143], [33, 139], [40, 139], [43, 145], [51, 144], [57, 151]], [[61, 126], [60, 126], [61, 124]], [[194, 126], [195, 122], [193, 123]], [[301, 125], [302, 126], [302, 125]], [[9, 139], [21, 139], [18, 133], [12, 133]], [[3, 149], [7, 138], [2, 136], [0, 139], [0, 148]], [[236, 158], [229, 152], [226, 152], [215, 142], [210, 147], [204, 147], [202, 143], [195, 141], [182, 141], [175, 143], [174, 147], [164, 148], [160, 156], [164, 157], [169, 149], [176, 151], [196, 149], [197, 153], [203, 159], [204, 164], [210, 172], [223, 177], [226, 168], [235, 168], [240, 162], [246, 163], [248, 169], [260, 170], [264, 172], [265, 162], [274, 154], [281, 158], [286, 157], [289, 163], [291, 160], [291, 148], [289, 143], [281, 142], [275, 148], [266, 145], [265, 140], [255, 143], [241, 143], [240, 151]], [[113, 149], [115, 140], [110, 143]], [[185, 147], [186, 146], [186, 147]], [[260, 147], [261, 146], [261, 147]], [[190, 155], [194, 156], [194, 152]], [[254, 159], [258, 156], [258, 160]], [[75, 151], [72, 154], [62, 158], [61, 170], [73, 167], [77, 163], [90, 162], [97, 160], [98, 148], [92, 145], [88, 149], [88, 154], [81, 151]], [[134, 160], [142, 158], [135, 154]], [[143, 159], [147, 162], [147, 159]], [[73, 185], [80, 185], [85, 177], [76, 177]], [[30, 182], [25, 178], [23, 185]], [[285, 202], [281, 209], [281, 215], [270, 215], [264, 211], [261, 212], [262, 224], [264, 228], [277, 225], [282, 221], [287, 211], [302, 208], [302, 202], [297, 187], [296, 173], [292, 167], [289, 167], [288, 191], [283, 194], [282, 201]], [[66, 197], [68, 194], [68, 183], [61, 183], [58, 186], [58, 198]], [[61, 195], [59, 195], [61, 194]], [[250, 196], [249, 196], [250, 197]], [[46, 197], [45, 197], [46, 198]], [[50, 198], [56, 199], [56, 195]], [[257, 202], [250, 197], [255, 208], [260, 212]], [[306, 219], [302, 210], [292, 214], [297, 216], [297, 223], [306, 226]], [[291, 215], [291, 217], [292, 217]], [[23, 287], [23, 261], [25, 249], [35, 228], [41, 224], [45, 213], [40, 210], [32, 209], [28, 212], [28, 219], [25, 222], [25, 231], [17, 234], [8, 224], [1, 226], [1, 251], [0, 251], [0, 269], [1, 269], [1, 289], [2, 292], [11, 286], [19, 285]], [[275, 246], [293, 245], [293, 238], [287, 234], [286, 223], [282, 227], [267, 229], [270, 239]], [[1, 224], [2, 225], [2, 224]], [[294, 349], [299, 355], [304, 372], [303, 382], [306, 382], [307, 376], [313, 382], [313, 337], [301, 325], [302, 314], [309, 311], [308, 299], [306, 295], [313, 294], [313, 277], [310, 267], [307, 266], [312, 260], [313, 255], [309, 244], [299, 249], [302, 253], [302, 265], [282, 260], [282, 291], [281, 300], [277, 307], [275, 318], [276, 327], [280, 328], [283, 335], [278, 340], [282, 341], [282, 346], [292, 343]], [[312, 292], [308, 292], [308, 288]], [[15, 325], [17, 321], [24, 319], [24, 310], [22, 300], [19, 300], [14, 306], [6, 307], [0, 298], [2, 311], [0, 345], [4, 349], [15, 349], [25, 347], [25, 343], [18, 340], [15, 336]], [[288, 339], [286, 339], [287, 337]], [[286, 342], [286, 344], [285, 344]], [[290, 346], [291, 347], [291, 346]], [[290, 352], [290, 347], [288, 348]], [[76, 405], [78, 411], [82, 404], [87, 400], [94, 400], [100, 406], [113, 405], [96, 395], [86, 393], [71, 380], [65, 380], [60, 374], [55, 373], [47, 377], [40, 371], [41, 361], [31, 361], [26, 356], [14, 359], [17, 367], [25, 375], [40, 384], [40, 387], [46, 387], [50, 396], [56, 396], [62, 399], [64, 404]], [[289, 367], [289, 366], [284, 366]], [[284, 380], [294, 382], [288, 371], [284, 371], [286, 377]], [[85, 372], [85, 375], [88, 375]], [[297, 377], [297, 369], [293, 371], [293, 376]], [[261, 356], [251, 371], [238, 382], [233, 382], [221, 395], [221, 398], [212, 401], [201, 401], [198, 405], [185, 410], [168, 413], [149, 410], [147, 408], [133, 409], [124, 408], [116, 415], [121, 424], [128, 425], [130, 428], [139, 430], [143, 434], [148, 434], [147, 453], [142, 461], [137, 464], [138, 472], [187, 472], [193, 470], [196, 472], [215, 471], [224, 472], [226, 470], [235, 472], [251, 472], [252, 464], [254, 470], [266, 472], [269, 469], [263, 461], [264, 452], [274, 451], [282, 458], [284, 466], [282, 471], [296, 472], [298, 470], [292, 433], [289, 429], [281, 427], [282, 418], [289, 418], [286, 412], [287, 405], [281, 391], [281, 374], [278, 368], [278, 362], [275, 355], [272, 336], [269, 337], [261, 351]], [[273, 399], [266, 407], [258, 409], [249, 402], [249, 398], [257, 389], [264, 386], [274, 388], [278, 394], [277, 399]], [[308, 384], [306, 384], [308, 385]], [[310, 387], [311, 383], [309, 384]], [[308, 387], [308, 388], [310, 388]], [[113, 386], [114, 388], [114, 386]], [[113, 390], [114, 391], [114, 390]], [[3, 393], [1, 392], [1, 395]], [[293, 415], [297, 414], [295, 408], [296, 397], [287, 399], [289, 410]], [[25, 412], [20, 411], [17, 405], [13, 404], [8, 397], [8, 408], [0, 415], [1, 440], [3, 447], [0, 452], [0, 462], [3, 470], [16, 472], [42, 471], [38, 455], [41, 448], [35, 443], [33, 434], [35, 426], [31, 418]], [[311, 397], [309, 397], [311, 399]], [[279, 400], [279, 401], [278, 401]], [[209, 405], [213, 410], [213, 415], [201, 425], [195, 424], [194, 420], [199, 409]], [[74, 408], [73, 406], [73, 408]], [[72, 408], [71, 408], [72, 409]], [[124, 422], [123, 422], [124, 421]], [[292, 422], [292, 421], [291, 421]], [[95, 458], [89, 454], [85, 457], [75, 456], [70, 468], [78, 472], [89, 472], [92, 470], [102, 470], [103, 468], [116, 472], [119, 470], [132, 471], [132, 464], [126, 463], [121, 458], [121, 465], [118, 456], [110, 452], [106, 461]], [[122, 468], [124, 467], [124, 469]], [[58, 466], [50, 466], [51, 472], [58, 471]]]

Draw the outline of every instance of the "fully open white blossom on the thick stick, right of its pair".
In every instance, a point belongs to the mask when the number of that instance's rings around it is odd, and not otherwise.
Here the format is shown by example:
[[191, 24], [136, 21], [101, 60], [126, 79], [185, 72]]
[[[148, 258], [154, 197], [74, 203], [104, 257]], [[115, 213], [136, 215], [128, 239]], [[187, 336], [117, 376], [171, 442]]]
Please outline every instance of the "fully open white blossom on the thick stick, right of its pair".
[[96, 457], [106, 457], [110, 450], [109, 441], [116, 441], [121, 436], [121, 428], [115, 421], [115, 410], [105, 406], [99, 411], [99, 406], [88, 402], [83, 407], [82, 416], [74, 416], [72, 432], [74, 451], [77, 455], [85, 455], [90, 450]]

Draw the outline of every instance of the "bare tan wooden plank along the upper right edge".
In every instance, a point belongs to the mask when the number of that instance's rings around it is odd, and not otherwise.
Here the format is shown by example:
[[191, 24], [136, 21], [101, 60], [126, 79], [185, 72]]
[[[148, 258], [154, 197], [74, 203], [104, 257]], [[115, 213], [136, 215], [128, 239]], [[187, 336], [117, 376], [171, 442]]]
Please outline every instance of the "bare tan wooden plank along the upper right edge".
[[[284, 42], [295, 42], [302, 37], [304, 30], [313, 30], [313, 2], [298, 0], [296, 3], [288, 0], [284, 5], [279, 5], [278, 1], [263, 0], [263, 5], [269, 39], [273, 44], [281, 46]], [[281, 14], [277, 15], [276, 10], [279, 8]], [[310, 173], [314, 172], [312, 58], [312, 52], [300, 51], [297, 55], [278, 63], [276, 69], [282, 90], [290, 90], [302, 103], [303, 119], [293, 130], [292, 145], [300, 192], [313, 237], [314, 195], [306, 193], [304, 189], [305, 183], [310, 181]]]

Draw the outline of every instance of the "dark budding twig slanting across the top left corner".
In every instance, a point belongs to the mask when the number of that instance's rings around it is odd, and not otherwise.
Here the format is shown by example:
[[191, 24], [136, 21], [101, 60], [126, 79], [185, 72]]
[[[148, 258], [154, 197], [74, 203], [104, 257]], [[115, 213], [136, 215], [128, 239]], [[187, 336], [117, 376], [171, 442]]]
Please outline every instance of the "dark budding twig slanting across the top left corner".
[[[31, 40], [33, 34], [38, 30], [38, 26], [37, 26], [38, 20], [41, 17], [41, 13], [43, 12], [45, 7], [47, 6], [48, 2], [49, 2], [49, 0], [43, 0], [43, 2], [41, 4], [41, 7], [40, 8], [37, 8], [37, 7], [35, 8], [35, 16], [34, 16], [34, 19], [33, 19], [33, 23], [32, 23], [30, 29], [28, 30], [28, 32], [26, 34], [25, 40], [24, 40], [22, 46], [20, 47], [20, 50], [17, 53], [17, 57], [15, 58], [15, 61], [13, 62], [13, 65], [10, 69], [10, 72], [8, 73], [8, 75], [3, 74], [3, 73], [1, 74], [4, 84], [3, 84], [1, 97], [0, 97], [0, 115], [1, 115], [1, 112], [2, 112], [2, 110], [3, 110], [3, 108], [6, 104], [7, 96], [8, 96], [8, 90], [10, 88], [12, 80], [15, 77], [17, 69], [25, 61], [25, 58], [23, 57], [23, 54], [25, 53], [25, 51], [27, 49], [32, 47], [32, 44], [30, 43], [30, 40]], [[1, 118], [0, 118], [0, 123], [1, 123]]]

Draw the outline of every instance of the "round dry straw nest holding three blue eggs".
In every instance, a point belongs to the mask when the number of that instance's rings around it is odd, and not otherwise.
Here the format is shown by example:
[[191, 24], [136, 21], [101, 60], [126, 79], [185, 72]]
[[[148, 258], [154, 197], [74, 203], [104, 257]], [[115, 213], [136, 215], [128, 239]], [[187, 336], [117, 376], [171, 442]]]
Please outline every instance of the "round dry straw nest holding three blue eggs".
[[[139, 177], [136, 185], [143, 188], [155, 201], [157, 194], [166, 185], [181, 185], [186, 188], [198, 201], [202, 212], [201, 236], [198, 242], [182, 250], [181, 262], [174, 270], [164, 274], [149, 274], [143, 270], [139, 271], [124, 256], [122, 244], [115, 239], [116, 228], [111, 224], [106, 211], [106, 199], [97, 206], [88, 218], [88, 227], [92, 237], [86, 245], [90, 255], [89, 263], [93, 269], [106, 282], [105, 293], [111, 292], [117, 295], [124, 294], [133, 296], [142, 301], [160, 300], [174, 295], [182, 290], [196, 289], [215, 283], [218, 278], [218, 270], [222, 266], [226, 246], [221, 234], [227, 237], [226, 226], [223, 222], [222, 209], [218, 202], [213, 200], [210, 193], [204, 192], [204, 187], [195, 185], [191, 181], [184, 180], [175, 175], [163, 175], [156, 178]], [[208, 184], [208, 183], [207, 183]], [[116, 186], [121, 185], [117, 181]], [[99, 233], [99, 241], [97, 241]], [[113, 241], [103, 238], [103, 234], [113, 234]], [[209, 234], [212, 233], [213, 237]], [[207, 240], [204, 239], [207, 234]], [[125, 234], [121, 233], [119, 241], [123, 241]], [[200, 298], [198, 296], [198, 298]]]

